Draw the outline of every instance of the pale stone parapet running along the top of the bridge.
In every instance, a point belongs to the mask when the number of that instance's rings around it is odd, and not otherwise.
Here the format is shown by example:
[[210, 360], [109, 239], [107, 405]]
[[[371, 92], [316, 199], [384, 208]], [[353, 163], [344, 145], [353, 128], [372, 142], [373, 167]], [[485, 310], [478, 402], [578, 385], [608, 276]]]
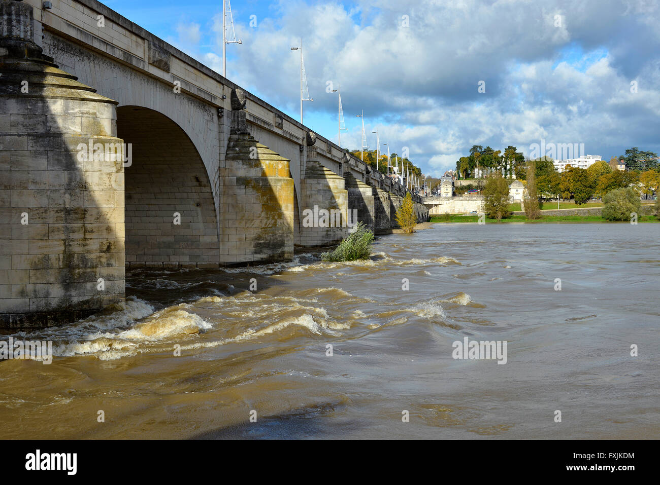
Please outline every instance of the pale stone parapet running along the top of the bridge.
[[[43, 9], [40, 0], [26, 0], [26, 3], [32, 5], [35, 18], [39, 19], [36, 20], [34, 40], [46, 49], [49, 49], [49, 42], [48, 39], [45, 43], [42, 40], [42, 30], [84, 45], [170, 86], [178, 86], [181, 93], [211, 105], [218, 115], [230, 111], [230, 93], [241, 89], [248, 101], [245, 107], [248, 123], [275, 132], [294, 144], [304, 144], [310, 128], [106, 5], [96, 0], [53, 0], [51, 9]], [[73, 71], [73, 66], [64, 67]], [[82, 73], [75, 74], [80, 76]], [[92, 82], [91, 79], [88, 81]], [[339, 173], [338, 166], [345, 150], [323, 136], [317, 136], [317, 150], [321, 163], [333, 162], [328, 168]], [[354, 175], [366, 181], [366, 163], [352, 157], [350, 164]], [[372, 178], [377, 175], [378, 171], [372, 169]]]

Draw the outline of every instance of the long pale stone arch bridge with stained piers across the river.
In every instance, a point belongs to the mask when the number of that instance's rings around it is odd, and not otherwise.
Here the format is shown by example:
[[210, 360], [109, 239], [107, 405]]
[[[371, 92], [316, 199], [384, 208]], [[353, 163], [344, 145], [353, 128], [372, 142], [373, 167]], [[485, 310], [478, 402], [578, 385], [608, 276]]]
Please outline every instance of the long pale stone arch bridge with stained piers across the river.
[[406, 194], [98, 1], [0, 0], [0, 74], [3, 327], [119, 302], [127, 266], [291, 260], [354, 214], [389, 229]]

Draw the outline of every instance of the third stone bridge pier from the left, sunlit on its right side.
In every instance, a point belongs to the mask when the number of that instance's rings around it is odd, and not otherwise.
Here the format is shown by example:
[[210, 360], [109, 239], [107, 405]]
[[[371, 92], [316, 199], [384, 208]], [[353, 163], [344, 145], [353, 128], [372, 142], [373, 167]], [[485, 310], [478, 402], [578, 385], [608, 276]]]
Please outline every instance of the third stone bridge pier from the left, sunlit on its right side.
[[[300, 181], [300, 244], [308, 247], [338, 244], [348, 235], [346, 181], [321, 165], [315, 146], [308, 146], [306, 155], [305, 178]], [[319, 217], [314, 220], [314, 215], [310, 219], [310, 211], [312, 214], [319, 214], [320, 210], [327, 210], [330, 214], [335, 214], [335, 217], [328, 217], [325, 224]], [[336, 215], [341, 219], [339, 224]]]

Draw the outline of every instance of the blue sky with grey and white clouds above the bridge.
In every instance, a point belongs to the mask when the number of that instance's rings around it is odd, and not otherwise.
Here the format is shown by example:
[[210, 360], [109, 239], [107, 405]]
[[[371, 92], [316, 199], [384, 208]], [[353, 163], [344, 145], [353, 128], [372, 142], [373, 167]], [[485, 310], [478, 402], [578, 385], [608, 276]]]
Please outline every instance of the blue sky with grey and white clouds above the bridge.
[[[221, 1], [106, 5], [222, 71]], [[364, 109], [371, 148], [378, 130], [428, 175], [473, 144], [529, 154], [544, 138], [604, 159], [631, 146], [660, 152], [657, 0], [234, 0], [232, 13], [244, 43], [227, 47], [228, 78], [299, 119], [290, 47], [302, 36], [314, 98], [305, 125], [337, 141], [326, 86], [341, 83], [342, 146], [360, 147]]]

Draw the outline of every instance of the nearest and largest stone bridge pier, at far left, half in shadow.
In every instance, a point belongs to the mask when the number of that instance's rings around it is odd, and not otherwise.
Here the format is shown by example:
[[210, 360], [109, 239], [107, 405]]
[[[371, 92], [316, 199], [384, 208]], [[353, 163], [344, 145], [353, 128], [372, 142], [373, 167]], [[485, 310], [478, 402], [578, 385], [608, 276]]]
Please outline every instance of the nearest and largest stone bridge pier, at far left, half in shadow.
[[41, 54], [32, 7], [0, 15], [0, 326], [61, 324], [124, 297], [115, 105]]

